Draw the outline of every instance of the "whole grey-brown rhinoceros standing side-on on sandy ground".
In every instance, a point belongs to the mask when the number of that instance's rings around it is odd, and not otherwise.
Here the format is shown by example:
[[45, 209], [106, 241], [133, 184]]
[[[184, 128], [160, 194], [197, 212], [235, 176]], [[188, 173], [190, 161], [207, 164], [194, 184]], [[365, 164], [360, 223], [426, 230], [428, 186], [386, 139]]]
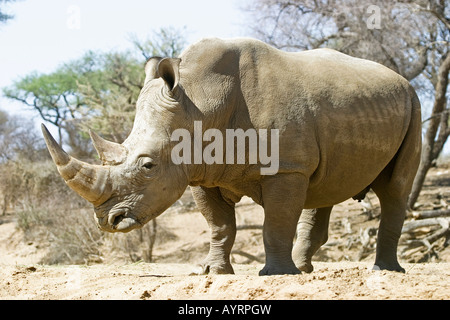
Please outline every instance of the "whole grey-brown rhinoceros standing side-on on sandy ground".
[[[381, 205], [373, 269], [404, 272], [397, 245], [421, 152], [420, 102], [407, 80], [331, 49], [283, 52], [247, 38], [203, 39], [179, 58], [151, 58], [145, 73], [128, 138], [118, 144], [91, 132], [101, 164], [69, 156], [43, 127], [59, 173], [93, 204], [100, 229], [140, 228], [190, 186], [211, 229], [202, 272], [231, 274], [235, 204], [248, 196], [265, 215], [259, 274], [311, 272], [333, 205], [372, 189]], [[230, 129], [276, 130], [264, 140], [276, 145], [276, 171], [220, 157], [174, 161], [176, 130]], [[191, 136], [192, 152], [211, 137]]]

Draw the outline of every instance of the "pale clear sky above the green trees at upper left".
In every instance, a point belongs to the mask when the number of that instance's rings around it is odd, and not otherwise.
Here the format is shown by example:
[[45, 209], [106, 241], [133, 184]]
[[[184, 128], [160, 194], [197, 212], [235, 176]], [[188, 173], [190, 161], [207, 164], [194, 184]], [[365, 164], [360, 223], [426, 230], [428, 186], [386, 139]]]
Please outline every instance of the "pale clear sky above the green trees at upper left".
[[[88, 50], [132, 48], [161, 27], [186, 28], [188, 43], [203, 37], [245, 36], [239, 0], [17, 0], [3, 5], [12, 20], [0, 25], [0, 88], [32, 71], [50, 73]], [[0, 109], [24, 108], [1, 96]]]

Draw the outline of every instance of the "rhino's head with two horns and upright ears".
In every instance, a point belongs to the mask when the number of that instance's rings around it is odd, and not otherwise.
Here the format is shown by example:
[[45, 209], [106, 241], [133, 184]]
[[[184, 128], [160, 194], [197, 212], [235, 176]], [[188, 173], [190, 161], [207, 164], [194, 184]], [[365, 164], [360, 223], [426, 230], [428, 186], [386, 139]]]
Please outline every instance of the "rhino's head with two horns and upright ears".
[[175, 125], [174, 115], [183, 109], [182, 90], [177, 90], [180, 61], [152, 58], [147, 62], [133, 129], [122, 144], [90, 132], [101, 165], [69, 156], [42, 125], [60, 175], [94, 205], [98, 226], [104, 231], [128, 232], [141, 227], [170, 207], [188, 186], [185, 168], [170, 161], [168, 133]]

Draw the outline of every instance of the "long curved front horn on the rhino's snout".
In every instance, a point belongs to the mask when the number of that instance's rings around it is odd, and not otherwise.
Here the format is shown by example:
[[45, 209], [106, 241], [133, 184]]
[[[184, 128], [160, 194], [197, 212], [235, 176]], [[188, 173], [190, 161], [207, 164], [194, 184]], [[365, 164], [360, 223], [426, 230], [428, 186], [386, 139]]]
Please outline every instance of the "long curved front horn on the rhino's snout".
[[44, 124], [41, 128], [48, 151], [66, 184], [94, 206], [108, 200], [111, 195], [109, 168], [88, 164], [69, 156]]

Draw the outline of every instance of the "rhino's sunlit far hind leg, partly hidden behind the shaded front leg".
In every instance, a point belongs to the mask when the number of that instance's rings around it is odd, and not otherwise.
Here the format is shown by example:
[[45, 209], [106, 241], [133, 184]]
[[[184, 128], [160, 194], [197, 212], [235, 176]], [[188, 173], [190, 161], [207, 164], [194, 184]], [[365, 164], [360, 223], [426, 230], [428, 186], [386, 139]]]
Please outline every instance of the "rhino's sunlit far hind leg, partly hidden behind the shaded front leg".
[[328, 224], [333, 207], [303, 210], [297, 225], [297, 241], [292, 251], [295, 265], [310, 273], [313, 255], [328, 240]]

